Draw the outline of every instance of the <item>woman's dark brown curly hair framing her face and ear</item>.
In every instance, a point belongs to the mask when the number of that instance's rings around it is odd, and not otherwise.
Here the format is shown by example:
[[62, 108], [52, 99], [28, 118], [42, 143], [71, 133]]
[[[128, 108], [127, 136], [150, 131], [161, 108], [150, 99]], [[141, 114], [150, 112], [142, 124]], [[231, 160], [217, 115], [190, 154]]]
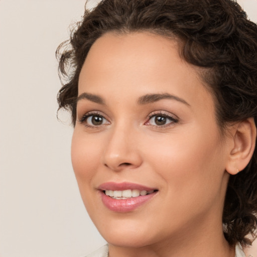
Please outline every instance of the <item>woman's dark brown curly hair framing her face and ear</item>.
[[[257, 122], [257, 26], [231, 0], [104, 0], [57, 49], [59, 109], [71, 110], [76, 121], [78, 77], [90, 47], [107, 32], [149, 31], [175, 37], [181, 56], [204, 67], [216, 102], [221, 130], [227, 122], [254, 117]], [[229, 244], [250, 244], [257, 226], [257, 150], [247, 167], [230, 176], [223, 210], [224, 235]]]

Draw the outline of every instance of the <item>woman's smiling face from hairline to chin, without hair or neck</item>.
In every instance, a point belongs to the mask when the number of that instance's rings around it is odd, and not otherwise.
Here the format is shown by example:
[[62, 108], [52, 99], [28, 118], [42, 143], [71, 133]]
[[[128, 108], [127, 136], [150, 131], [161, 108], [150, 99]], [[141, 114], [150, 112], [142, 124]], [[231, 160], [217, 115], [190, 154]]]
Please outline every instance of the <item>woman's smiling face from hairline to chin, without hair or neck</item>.
[[110, 244], [182, 240], [209, 227], [222, 233], [228, 148], [213, 97], [178, 44], [107, 33], [82, 67], [72, 164]]

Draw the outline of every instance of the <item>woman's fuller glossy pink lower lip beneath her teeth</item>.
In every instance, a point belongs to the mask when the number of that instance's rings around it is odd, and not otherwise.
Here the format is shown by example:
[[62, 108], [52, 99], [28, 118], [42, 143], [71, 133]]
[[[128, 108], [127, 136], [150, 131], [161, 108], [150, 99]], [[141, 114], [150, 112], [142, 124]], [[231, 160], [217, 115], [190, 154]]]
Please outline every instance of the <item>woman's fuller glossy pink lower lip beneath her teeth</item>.
[[149, 201], [153, 196], [156, 195], [156, 193], [157, 192], [154, 192], [149, 195], [131, 197], [128, 199], [113, 199], [105, 195], [105, 193], [101, 191], [101, 198], [102, 198], [103, 204], [111, 211], [130, 212], [142, 206], [147, 201]]

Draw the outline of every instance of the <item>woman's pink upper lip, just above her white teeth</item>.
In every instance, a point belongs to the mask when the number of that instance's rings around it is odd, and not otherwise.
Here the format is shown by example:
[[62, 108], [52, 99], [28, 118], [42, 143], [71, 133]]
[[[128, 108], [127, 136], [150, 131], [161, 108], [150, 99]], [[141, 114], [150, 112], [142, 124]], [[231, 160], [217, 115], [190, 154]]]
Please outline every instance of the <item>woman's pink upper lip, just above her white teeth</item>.
[[116, 183], [116, 182], [105, 182], [102, 183], [99, 187], [99, 190], [126, 190], [126, 189], [138, 189], [139, 191], [152, 191], [157, 190], [156, 188], [147, 187], [140, 184], [135, 184], [131, 182], [122, 182], [122, 183]]

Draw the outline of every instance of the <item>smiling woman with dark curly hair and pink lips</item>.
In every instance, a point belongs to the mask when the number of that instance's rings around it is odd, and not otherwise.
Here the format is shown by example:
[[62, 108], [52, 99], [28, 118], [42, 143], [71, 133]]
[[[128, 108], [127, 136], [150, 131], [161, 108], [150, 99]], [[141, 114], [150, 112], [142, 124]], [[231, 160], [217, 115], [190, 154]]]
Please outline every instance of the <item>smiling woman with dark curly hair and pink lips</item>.
[[108, 242], [92, 256], [244, 256], [257, 210], [256, 25], [230, 0], [105, 0], [66, 43], [59, 106]]

